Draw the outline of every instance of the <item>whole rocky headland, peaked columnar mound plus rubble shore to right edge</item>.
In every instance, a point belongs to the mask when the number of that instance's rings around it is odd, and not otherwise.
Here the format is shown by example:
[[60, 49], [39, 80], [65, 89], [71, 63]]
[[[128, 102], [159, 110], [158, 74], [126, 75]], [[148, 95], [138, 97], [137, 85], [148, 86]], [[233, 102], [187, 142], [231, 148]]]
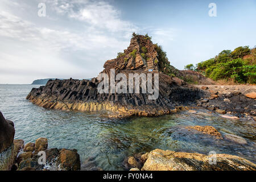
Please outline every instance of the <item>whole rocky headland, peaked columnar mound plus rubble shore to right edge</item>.
[[[236, 85], [234, 88], [214, 85], [212, 80], [201, 73], [179, 71], [170, 65], [167, 58], [163, 59], [157, 44], [153, 44], [147, 36], [134, 35], [130, 46], [123, 53], [119, 53], [116, 59], [106, 61], [104, 68], [101, 73], [108, 75], [109, 79], [110, 70], [114, 69], [115, 75], [126, 75], [127, 82], [130, 73], [137, 73], [137, 77], [142, 73], [159, 73], [159, 97], [149, 100], [148, 96], [152, 94], [129, 93], [128, 88], [127, 93], [99, 93], [97, 87], [101, 80], [70, 78], [49, 80], [45, 86], [33, 88], [27, 99], [49, 109], [107, 111], [109, 117], [155, 116], [175, 113], [181, 108], [184, 109], [184, 106], [199, 106], [220, 114], [228, 113], [224, 117], [231, 119], [255, 119], [255, 98], [246, 97], [246, 94], [256, 92], [255, 86]], [[154, 76], [152, 80], [154, 82]], [[187, 82], [191, 80], [208, 85], [190, 85]], [[142, 84], [139, 89], [142, 90]]]

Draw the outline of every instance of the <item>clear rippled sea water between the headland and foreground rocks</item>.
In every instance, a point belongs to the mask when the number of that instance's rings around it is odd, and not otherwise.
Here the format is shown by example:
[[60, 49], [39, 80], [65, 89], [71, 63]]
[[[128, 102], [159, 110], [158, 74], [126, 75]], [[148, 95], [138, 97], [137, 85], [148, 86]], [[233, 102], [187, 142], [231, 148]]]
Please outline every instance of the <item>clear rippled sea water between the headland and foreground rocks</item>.
[[[49, 148], [76, 148], [81, 164], [88, 163], [104, 170], [123, 170], [123, 160], [139, 152], [155, 148], [173, 151], [209, 151], [238, 155], [256, 163], [256, 123], [230, 120], [217, 114], [188, 112], [161, 117], [109, 119], [99, 113], [80, 113], [44, 109], [26, 100], [33, 87], [39, 85], [0, 85], [0, 110], [15, 124], [15, 139], [25, 143], [39, 137], [48, 138]], [[189, 133], [186, 126], [210, 125], [222, 135], [234, 134], [246, 140], [238, 144], [207, 135]]]

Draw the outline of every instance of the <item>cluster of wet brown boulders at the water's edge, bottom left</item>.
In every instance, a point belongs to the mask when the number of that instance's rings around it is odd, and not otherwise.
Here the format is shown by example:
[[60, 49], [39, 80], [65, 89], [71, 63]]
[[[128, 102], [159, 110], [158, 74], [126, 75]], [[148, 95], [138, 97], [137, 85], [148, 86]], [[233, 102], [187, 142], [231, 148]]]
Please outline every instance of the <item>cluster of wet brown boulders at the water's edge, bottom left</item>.
[[[65, 148], [47, 148], [47, 138], [38, 138], [34, 143], [27, 143], [21, 148], [21, 152], [15, 160], [13, 170], [18, 171], [78, 171], [81, 168], [80, 155], [76, 149], [68, 150]], [[22, 150], [23, 149], [23, 150]], [[39, 164], [42, 159], [40, 151], [46, 154], [46, 163]]]

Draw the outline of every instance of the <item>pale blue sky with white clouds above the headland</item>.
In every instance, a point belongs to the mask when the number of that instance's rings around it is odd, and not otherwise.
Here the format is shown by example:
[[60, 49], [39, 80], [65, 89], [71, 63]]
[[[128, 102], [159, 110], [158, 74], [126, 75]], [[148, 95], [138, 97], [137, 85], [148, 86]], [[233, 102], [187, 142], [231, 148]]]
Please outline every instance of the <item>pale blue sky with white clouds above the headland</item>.
[[152, 36], [183, 69], [224, 49], [253, 48], [255, 19], [255, 0], [1, 0], [0, 84], [97, 77], [133, 32]]

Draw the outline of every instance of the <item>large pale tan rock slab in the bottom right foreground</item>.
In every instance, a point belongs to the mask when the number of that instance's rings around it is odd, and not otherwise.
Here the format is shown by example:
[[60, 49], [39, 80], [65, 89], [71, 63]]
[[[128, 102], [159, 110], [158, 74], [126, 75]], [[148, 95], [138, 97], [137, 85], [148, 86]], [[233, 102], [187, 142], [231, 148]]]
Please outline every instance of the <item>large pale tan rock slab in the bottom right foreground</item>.
[[[256, 165], [234, 155], [216, 154], [216, 164], [210, 164], [213, 155], [153, 150], [147, 154], [142, 171], [255, 171]], [[213, 160], [210, 160], [213, 162]]]

